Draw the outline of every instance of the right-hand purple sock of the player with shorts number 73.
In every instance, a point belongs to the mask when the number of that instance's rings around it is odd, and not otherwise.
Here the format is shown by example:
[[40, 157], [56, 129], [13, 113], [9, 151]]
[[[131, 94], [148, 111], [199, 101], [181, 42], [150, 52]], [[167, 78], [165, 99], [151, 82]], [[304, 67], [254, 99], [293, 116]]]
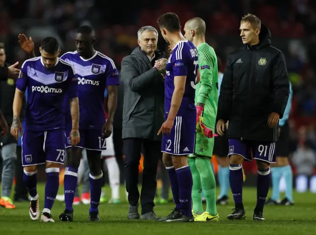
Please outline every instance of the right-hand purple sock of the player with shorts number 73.
[[52, 167], [46, 170], [44, 209], [51, 210], [59, 188], [59, 168]]

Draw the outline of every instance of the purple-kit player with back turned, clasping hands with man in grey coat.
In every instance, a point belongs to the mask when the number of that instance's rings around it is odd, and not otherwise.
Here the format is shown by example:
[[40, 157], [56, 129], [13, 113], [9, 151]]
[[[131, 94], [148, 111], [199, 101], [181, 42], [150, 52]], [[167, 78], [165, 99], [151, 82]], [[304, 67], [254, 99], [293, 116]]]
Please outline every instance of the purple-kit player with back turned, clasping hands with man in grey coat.
[[196, 135], [195, 87], [199, 81], [197, 48], [181, 34], [176, 14], [161, 15], [158, 25], [162, 37], [173, 48], [166, 65], [165, 122], [158, 134], [163, 134], [163, 163], [169, 173], [176, 203], [174, 210], [160, 221], [193, 222], [193, 181], [187, 157], [194, 153]]

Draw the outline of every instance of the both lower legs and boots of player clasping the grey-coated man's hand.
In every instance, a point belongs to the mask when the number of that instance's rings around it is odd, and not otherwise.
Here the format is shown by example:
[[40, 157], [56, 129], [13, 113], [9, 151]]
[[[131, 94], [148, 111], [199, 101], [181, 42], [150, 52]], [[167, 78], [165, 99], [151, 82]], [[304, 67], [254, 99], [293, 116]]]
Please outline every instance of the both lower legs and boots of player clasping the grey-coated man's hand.
[[163, 153], [162, 160], [169, 173], [176, 207], [167, 217], [162, 218], [160, 221], [193, 222], [191, 203], [193, 179], [188, 164], [188, 157]]

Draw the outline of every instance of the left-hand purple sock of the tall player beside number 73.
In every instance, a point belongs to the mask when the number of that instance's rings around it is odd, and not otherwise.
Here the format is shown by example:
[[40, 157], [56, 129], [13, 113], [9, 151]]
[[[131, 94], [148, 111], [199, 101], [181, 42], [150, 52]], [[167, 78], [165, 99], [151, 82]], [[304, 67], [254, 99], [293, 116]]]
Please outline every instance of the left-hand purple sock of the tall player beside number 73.
[[73, 203], [75, 197], [75, 191], [78, 184], [78, 169], [74, 167], [66, 167], [64, 177], [64, 189], [65, 189], [65, 209], [74, 211]]

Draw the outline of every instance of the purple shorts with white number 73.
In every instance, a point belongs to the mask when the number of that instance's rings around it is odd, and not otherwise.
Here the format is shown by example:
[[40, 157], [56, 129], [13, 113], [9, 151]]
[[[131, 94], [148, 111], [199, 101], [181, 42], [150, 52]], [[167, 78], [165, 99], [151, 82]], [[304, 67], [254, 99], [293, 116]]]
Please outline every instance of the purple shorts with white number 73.
[[22, 136], [22, 166], [65, 161], [65, 130], [25, 131]]

